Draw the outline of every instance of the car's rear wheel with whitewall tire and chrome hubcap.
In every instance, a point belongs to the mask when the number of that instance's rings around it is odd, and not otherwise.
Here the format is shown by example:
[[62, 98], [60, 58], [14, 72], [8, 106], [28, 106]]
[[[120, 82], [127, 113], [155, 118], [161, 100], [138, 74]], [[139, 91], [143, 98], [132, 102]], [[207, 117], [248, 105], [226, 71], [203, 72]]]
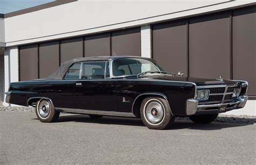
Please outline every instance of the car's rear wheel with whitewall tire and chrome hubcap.
[[59, 112], [55, 110], [52, 102], [47, 99], [37, 101], [36, 115], [42, 122], [55, 122], [59, 118]]

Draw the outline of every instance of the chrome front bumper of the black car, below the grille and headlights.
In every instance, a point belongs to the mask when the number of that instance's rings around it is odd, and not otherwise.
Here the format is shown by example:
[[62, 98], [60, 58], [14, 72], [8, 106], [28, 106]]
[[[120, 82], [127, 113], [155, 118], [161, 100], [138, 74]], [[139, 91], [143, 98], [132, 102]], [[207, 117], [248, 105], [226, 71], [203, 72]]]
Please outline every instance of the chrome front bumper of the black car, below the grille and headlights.
[[[216, 114], [231, 111], [233, 109], [243, 108], [248, 100], [247, 95], [240, 95], [237, 99], [223, 101], [218, 103], [207, 102], [199, 103], [196, 99], [188, 99], [186, 102], [186, 114]], [[220, 112], [219, 107], [226, 106], [225, 111]]]

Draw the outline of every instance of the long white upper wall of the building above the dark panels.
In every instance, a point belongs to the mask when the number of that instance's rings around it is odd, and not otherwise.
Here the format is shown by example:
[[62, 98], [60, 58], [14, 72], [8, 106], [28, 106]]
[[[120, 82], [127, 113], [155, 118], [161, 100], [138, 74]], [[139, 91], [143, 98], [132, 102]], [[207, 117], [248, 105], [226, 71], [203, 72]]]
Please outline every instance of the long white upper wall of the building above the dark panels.
[[254, 1], [77, 1], [5, 18], [5, 42], [6, 46], [14, 46], [85, 35], [252, 2]]

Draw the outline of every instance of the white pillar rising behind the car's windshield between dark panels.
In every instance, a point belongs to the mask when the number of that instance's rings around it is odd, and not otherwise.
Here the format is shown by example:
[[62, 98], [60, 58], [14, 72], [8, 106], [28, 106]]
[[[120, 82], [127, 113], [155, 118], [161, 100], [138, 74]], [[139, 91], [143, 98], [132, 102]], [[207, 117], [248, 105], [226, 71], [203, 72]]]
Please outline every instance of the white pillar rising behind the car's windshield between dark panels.
[[151, 27], [143, 25], [140, 27], [142, 57], [151, 58]]

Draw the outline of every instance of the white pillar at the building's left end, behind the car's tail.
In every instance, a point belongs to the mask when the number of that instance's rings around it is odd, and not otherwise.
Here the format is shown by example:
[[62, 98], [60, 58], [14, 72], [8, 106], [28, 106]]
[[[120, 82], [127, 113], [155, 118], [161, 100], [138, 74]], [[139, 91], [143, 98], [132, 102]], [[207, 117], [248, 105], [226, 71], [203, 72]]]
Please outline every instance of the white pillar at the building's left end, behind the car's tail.
[[[8, 47], [4, 52], [4, 92], [8, 91], [9, 85], [12, 82], [19, 81], [19, 56], [18, 47]], [[4, 106], [10, 106], [5, 102], [6, 95], [4, 94]]]

